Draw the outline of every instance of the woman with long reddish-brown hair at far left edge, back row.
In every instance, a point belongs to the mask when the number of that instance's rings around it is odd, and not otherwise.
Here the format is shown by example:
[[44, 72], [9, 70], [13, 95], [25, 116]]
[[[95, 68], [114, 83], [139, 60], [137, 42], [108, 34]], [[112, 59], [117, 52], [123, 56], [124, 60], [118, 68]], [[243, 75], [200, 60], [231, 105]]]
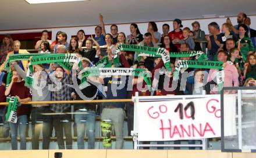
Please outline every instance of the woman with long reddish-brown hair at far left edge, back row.
[[3, 37], [3, 44], [0, 47], [0, 65], [5, 62], [5, 58], [9, 52], [13, 51], [13, 40], [9, 34]]

